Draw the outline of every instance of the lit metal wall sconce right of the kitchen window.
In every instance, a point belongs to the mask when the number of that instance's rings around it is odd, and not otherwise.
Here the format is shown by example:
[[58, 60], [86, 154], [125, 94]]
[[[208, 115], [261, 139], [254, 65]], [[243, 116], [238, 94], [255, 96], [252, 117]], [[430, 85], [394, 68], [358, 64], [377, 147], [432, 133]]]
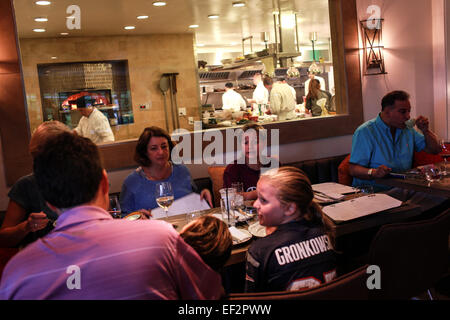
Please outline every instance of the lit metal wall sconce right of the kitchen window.
[[385, 74], [382, 22], [384, 19], [361, 21], [364, 46], [364, 75]]

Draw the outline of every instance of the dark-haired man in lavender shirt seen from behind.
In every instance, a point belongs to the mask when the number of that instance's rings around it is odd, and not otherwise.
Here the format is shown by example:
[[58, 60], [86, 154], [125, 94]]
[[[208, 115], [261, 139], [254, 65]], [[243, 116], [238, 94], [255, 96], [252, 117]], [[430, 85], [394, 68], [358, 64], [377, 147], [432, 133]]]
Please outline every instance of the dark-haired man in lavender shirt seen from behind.
[[62, 133], [34, 160], [55, 229], [7, 264], [0, 299], [218, 299], [220, 275], [172, 225], [115, 220], [108, 178], [89, 139]]

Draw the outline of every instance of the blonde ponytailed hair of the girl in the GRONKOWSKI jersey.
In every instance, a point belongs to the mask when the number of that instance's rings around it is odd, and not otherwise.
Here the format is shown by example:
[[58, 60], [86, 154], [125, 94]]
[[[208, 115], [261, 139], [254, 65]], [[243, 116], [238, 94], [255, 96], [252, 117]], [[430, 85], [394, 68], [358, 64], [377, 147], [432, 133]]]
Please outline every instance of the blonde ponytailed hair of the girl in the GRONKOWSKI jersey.
[[276, 197], [284, 205], [294, 203], [300, 217], [322, 223], [322, 208], [314, 201], [314, 192], [306, 174], [296, 167], [271, 169], [261, 174], [277, 190]]

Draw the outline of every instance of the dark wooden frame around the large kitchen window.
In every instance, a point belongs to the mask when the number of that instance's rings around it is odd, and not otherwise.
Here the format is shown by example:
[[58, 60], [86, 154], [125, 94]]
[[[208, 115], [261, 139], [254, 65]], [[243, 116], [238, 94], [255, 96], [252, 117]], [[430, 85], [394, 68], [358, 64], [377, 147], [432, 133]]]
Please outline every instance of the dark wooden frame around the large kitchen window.
[[[8, 70], [12, 72], [7, 74], [10, 78], [0, 81], [1, 137], [8, 185], [31, 171], [31, 158], [27, 152], [30, 133], [23, 79], [21, 73], [17, 72], [20, 70], [20, 58], [11, 3], [12, 0], [0, 0], [0, 22], [6, 24], [0, 30], [0, 48], [6, 46], [10, 51], [15, 50], [11, 53], [13, 57], [7, 59], [8, 63], [12, 63], [8, 64]], [[329, 0], [329, 11], [336, 98], [341, 114], [265, 125], [267, 129], [280, 130], [280, 144], [350, 135], [363, 122], [356, 0]], [[220, 129], [219, 132], [225, 137], [226, 129]], [[193, 141], [193, 133], [189, 134]], [[133, 155], [136, 141], [100, 146], [105, 168], [117, 170], [135, 166]]]

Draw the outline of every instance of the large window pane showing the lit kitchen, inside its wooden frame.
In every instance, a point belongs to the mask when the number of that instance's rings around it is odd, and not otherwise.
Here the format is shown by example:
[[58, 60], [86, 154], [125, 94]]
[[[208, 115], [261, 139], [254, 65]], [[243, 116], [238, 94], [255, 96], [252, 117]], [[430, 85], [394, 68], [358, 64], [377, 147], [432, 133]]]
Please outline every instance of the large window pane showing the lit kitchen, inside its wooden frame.
[[[348, 112], [335, 98], [327, 0], [48, 2], [14, 0], [31, 132], [47, 120], [74, 128], [86, 107], [102, 112], [115, 141], [151, 125], [300, 126]], [[254, 97], [257, 85], [265, 90], [258, 73], [274, 83], [268, 101]], [[243, 98], [237, 109], [224, 105], [227, 83]]]

